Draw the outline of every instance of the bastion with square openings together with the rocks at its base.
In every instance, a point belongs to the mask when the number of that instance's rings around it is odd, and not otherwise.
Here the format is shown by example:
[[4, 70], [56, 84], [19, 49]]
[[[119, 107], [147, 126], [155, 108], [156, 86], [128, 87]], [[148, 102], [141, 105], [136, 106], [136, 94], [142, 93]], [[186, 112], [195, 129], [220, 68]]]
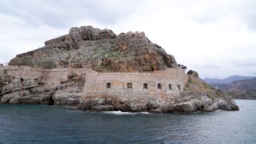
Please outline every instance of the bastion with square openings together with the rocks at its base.
[[[238, 110], [232, 98], [210, 88], [202, 88], [201, 92], [186, 91], [188, 86], [200, 89], [207, 85], [179, 68], [151, 73], [87, 74], [85, 79], [78, 106], [82, 110], [154, 113]], [[188, 85], [189, 79], [194, 80], [194, 85]]]

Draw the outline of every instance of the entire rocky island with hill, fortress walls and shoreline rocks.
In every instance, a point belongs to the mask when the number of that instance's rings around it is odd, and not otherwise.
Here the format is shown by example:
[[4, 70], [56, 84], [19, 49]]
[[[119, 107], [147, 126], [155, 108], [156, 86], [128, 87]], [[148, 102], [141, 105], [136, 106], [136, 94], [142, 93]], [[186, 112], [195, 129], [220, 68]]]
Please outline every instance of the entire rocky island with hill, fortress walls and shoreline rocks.
[[92, 26], [45, 41], [0, 65], [1, 104], [78, 106], [80, 110], [195, 112], [239, 110], [234, 99], [186, 74], [141, 32]]

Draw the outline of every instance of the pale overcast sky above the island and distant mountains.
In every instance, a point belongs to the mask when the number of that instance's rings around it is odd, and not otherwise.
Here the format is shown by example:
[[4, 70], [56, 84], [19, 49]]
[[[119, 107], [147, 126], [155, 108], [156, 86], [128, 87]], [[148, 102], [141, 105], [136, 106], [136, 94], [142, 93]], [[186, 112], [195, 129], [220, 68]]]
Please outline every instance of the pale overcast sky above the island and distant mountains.
[[143, 31], [201, 78], [256, 76], [256, 1], [0, 0], [0, 63], [69, 28]]

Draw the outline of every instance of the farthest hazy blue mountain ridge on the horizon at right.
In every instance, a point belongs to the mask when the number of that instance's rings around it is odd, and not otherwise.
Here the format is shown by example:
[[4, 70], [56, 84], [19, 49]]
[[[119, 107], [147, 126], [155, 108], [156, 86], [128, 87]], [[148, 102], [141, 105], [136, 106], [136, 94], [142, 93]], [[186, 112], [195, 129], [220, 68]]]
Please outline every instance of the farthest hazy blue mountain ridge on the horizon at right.
[[239, 75], [233, 75], [226, 77], [225, 79], [210, 79], [210, 78], [205, 78], [203, 81], [206, 83], [222, 83], [222, 84], [229, 84], [232, 83], [233, 81], [240, 81], [240, 80], [246, 80], [246, 79], [253, 79], [255, 76], [239, 76]]

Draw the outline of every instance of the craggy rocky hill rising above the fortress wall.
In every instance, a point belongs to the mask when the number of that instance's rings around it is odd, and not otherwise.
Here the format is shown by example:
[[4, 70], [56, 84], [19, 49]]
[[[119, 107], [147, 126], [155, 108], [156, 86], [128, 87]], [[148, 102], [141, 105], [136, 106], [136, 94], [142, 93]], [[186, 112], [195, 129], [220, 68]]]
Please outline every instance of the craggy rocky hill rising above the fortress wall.
[[96, 71], [149, 71], [177, 67], [174, 57], [150, 43], [143, 32], [117, 36], [110, 29], [91, 26], [72, 28], [70, 32], [45, 41], [42, 48], [17, 55], [10, 65], [18, 65], [17, 61], [27, 58], [36, 67], [44, 67], [44, 63], [50, 61], [56, 63], [57, 68]]

